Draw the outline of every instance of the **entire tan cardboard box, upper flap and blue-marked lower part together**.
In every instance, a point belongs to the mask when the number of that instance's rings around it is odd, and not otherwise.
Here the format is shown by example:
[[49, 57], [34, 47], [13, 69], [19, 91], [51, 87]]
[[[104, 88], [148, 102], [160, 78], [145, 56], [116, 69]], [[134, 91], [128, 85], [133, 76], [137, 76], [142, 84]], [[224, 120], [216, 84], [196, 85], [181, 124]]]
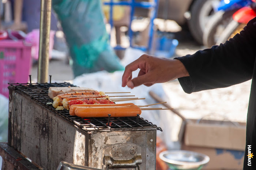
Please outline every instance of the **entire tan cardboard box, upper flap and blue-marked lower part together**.
[[203, 170], [242, 170], [245, 137], [245, 123], [189, 120], [181, 149], [208, 155]]

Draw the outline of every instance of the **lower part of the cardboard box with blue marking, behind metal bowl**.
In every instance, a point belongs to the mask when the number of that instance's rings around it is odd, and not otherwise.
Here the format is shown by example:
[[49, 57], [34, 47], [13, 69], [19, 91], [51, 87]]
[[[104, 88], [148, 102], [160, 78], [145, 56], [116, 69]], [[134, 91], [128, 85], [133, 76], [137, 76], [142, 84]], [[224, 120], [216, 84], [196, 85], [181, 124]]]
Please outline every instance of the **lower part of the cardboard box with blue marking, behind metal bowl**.
[[185, 146], [182, 150], [199, 152], [210, 157], [210, 161], [202, 170], [242, 170], [244, 151], [224, 150], [205, 147]]

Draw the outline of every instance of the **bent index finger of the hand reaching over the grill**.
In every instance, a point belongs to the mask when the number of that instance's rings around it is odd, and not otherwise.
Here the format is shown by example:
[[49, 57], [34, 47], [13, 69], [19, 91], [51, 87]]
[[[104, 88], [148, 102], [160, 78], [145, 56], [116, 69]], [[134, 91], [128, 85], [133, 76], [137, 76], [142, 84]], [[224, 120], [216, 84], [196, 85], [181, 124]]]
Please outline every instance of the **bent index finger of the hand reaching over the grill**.
[[[145, 63], [145, 61], [142, 60], [140, 57], [125, 67], [124, 74], [122, 77], [122, 87], [125, 87], [127, 85], [127, 82], [132, 79], [132, 72], [137, 70], [140, 67], [140, 65], [143, 65], [143, 63]], [[132, 86], [132, 84], [130, 85]]]

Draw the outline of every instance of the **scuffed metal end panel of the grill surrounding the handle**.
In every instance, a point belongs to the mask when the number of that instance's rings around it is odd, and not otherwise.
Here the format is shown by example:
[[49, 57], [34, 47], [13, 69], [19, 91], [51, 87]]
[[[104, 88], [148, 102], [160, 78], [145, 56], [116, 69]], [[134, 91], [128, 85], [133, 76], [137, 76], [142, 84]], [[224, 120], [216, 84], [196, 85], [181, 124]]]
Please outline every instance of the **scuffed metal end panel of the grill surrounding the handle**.
[[[152, 139], [152, 140], [151, 140]], [[135, 148], [141, 148], [141, 164], [139, 165], [140, 170], [154, 170], [155, 159], [156, 159], [156, 130], [145, 130], [145, 131], [115, 131], [115, 132], [94, 132], [91, 134], [91, 140], [89, 141], [89, 155], [94, 155], [89, 158], [88, 166], [95, 167], [98, 169], [107, 169], [109, 162], [104, 161], [105, 155], [109, 155], [108, 149], [110, 147], [118, 146], [118, 150], [126, 150], [120, 146], [128, 144], [127, 146], [135, 146]], [[129, 148], [130, 150], [131, 148]], [[140, 151], [140, 149], [138, 149]], [[118, 151], [116, 151], [118, 152]], [[126, 152], [130, 154], [130, 152]], [[139, 158], [139, 157], [137, 157]], [[131, 161], [132, 160], [132, 161]], [[127, 167], [121, 165], [117, 168], [118, 170], [133, 170], [131, 168], [133, 161], [139, 159], [121, 160]], [[140, 160], [139, 160], [140, 161]], [[102, 164], [101, 164], [102, 163]], [[118, 163], [118, 161], [117, 161]], [[123, 167], [123, 168], [121, 168]], [[109, 168], [112, 169], [112, 168]]]

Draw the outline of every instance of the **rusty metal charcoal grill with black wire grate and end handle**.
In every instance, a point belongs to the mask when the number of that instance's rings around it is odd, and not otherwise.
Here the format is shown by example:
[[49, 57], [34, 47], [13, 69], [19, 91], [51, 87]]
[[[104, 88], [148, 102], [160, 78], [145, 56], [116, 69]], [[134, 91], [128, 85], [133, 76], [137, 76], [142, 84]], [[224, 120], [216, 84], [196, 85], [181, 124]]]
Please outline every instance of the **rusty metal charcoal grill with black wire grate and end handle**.
[[98, 169], [154, 170], [156, 131], [142, 117], [80, 118], [55, 110], [49, 87], [64, 83], [10, 84], [8, 146], [43, 169], [61, 161]]

